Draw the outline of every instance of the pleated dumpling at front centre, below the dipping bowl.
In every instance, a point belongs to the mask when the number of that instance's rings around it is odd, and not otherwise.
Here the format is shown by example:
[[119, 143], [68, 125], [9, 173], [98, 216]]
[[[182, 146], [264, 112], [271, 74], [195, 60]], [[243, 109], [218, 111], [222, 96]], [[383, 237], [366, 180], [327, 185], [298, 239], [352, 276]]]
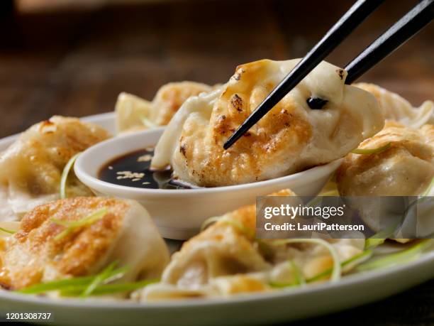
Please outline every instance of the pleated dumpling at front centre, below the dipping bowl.
[[[291, 196], [294, 192], [281, 190], [272, 195]], [[255, 205], [224, 214], [185, 242], [172, 255], [162, 281], [147, 286], [138, 296], [153, 301], [263, 292], [276, 290], [273, 283], [294, 282], [295, 270], [309, 279], [333, 266], [332, 256], [324, 246], [308, 241], [275, 244], [274, 240], [255, 240], [255, 218]], [[365, 239], [327, 241], [340, 262], [362, 253], [365, 246]]]

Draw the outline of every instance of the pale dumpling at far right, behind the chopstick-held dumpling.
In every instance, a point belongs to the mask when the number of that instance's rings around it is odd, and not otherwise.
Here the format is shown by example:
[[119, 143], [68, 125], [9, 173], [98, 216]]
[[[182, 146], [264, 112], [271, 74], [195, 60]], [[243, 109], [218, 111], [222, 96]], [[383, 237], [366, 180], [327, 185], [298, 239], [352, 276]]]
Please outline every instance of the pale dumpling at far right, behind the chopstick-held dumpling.
[[419, 128], [424, 124], [434, 124], [434, 103], [425, 101], [421, 107], [413, 107], [403, 97], [374, 84], [360, 82], [354, 86], [365, 89], [377, 98], [386, 120], [397, 121], [404, 126]]

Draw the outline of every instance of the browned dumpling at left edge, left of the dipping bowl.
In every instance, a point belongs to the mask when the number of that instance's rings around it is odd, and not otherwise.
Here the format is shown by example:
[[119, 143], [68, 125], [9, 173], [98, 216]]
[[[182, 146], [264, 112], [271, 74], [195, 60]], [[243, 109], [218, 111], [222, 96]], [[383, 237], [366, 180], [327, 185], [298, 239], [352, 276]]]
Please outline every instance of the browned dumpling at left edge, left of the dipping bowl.
[[[106, 138], [109, 133], [101, 127], [63, 116], [24, 131], [0, 154], [0, 219], [19, 219], [33, 207], [57, 200], [69, 159]], [[68, 196], [91, 195], [73, 173], [68, 180]]]

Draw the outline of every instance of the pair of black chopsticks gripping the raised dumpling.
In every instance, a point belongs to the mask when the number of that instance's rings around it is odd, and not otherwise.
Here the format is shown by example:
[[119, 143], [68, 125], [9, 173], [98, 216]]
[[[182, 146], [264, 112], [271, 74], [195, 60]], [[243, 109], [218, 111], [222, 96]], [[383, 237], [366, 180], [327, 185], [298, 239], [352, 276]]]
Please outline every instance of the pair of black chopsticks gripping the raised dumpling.
[[[409, 11], [403, 18], [389, 28], [386, 33], [377, 38], [360, 55], [345, 67], [348, 72], [345, 82], [348, 84], [360, 77], [369, 68], [392, 53], [414, 34], [427, 25], [434, 16], [434, 0], [423, 0]], [[382, 0], [359, 0], [348, 10], [340, 20], [328, 31], [315, 47], [300, 61], [296, 67], [275, 87], [265, 100], [241, 124], [238, 129], [224, 143], [223, 148], [228, 149], [246, 131], [265, 116], [288, 92], [313, 70], [321, 61], [347, 37], [370, 13], [382, 4]], [[313, 109], [320, 109], [323, 99], [308, 99]]]

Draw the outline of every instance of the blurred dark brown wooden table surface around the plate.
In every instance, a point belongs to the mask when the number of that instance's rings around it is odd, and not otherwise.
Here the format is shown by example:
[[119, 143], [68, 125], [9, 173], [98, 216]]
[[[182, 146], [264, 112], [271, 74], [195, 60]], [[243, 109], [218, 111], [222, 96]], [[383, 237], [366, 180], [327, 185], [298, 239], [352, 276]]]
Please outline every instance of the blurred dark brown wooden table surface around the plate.
[[[352, 1], [163, 1], [31, 14], [8, 12], [6, 2], [0, 4], [6, 31], [0, 43], [0, 137], [53, 114], [111, 111], [119, 92], [152, 99], [166, 82], [225, 82], [240, 63], [301, 57]], [[328, 61], [345, 66], [415, 3], [386, 1]], [[434, 97], [433, 50], [430, 26], [361, 80], [419, 105]], [[299, 325], [309, 322], [432, 325], [434, 281]]]

